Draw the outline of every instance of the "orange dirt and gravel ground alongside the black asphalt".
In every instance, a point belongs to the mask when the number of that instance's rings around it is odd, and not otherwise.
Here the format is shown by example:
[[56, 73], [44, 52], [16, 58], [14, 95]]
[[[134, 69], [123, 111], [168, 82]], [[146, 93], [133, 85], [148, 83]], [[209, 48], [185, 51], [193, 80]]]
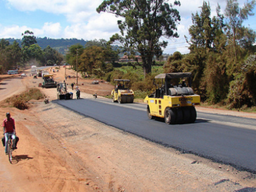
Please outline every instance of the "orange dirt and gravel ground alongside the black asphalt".
[[[56, 79], [64, 80], [63, 69]], [[73, 80], [67, 79], [69, 84]], [[21, 80], [25, 87], [37, 87], [40, 81]], [[79, 82], [80, 89], [90, 93], [83, 92], [82, 97], [92, 97], [94, 92], [109, 94], [113, 88], [105, 83], [92, 85], [91, 80]], [[55, 89], [41, 90], [50, 100], [56, 99]], [[16, 121], [20, 142], [14, 164], [8, 162], [4, 148], [0, 151], [0, 191], [256, 191], [252, 173], [180, 154], [52, 102], [30, 101], [24, 111], [0, 107], [2, 119], [7, 111]]]

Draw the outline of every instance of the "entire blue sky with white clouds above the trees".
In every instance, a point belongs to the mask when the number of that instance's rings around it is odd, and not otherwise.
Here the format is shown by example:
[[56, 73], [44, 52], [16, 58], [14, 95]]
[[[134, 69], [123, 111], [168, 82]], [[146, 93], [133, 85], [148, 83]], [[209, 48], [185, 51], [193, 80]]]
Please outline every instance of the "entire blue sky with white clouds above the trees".
[[[33, 31], [36, 37], [77, 38], [84, 40], [106, 39], [118, 33], [117, 18], [110, 13], [96, 12], [102, 0], [0, 0], [0, 38], [18, 38], [26, 30]], [[180, 51], [187, 53], [188, 44], [184, 35], [189, 36], [191, 14], [200, 11], [203, 0], [180, 0], [181, 22], [178, 25], [178, 39], [168, 39], [165, 53]], [[206, 1], [208, 2], [208, 1]], [[245, 0], [238, 0], [240, 6]], [[169, 0], [169, 3], [173, 3]], [[211, 0], [211, 13], [219, 3], [224, 11], [226, 1]], [[256, 8], [254, 9], [256, 13]], [[256, 31], [256, 16], [244, 22]], [[167, 40], [167, 39], [164, 39]]]

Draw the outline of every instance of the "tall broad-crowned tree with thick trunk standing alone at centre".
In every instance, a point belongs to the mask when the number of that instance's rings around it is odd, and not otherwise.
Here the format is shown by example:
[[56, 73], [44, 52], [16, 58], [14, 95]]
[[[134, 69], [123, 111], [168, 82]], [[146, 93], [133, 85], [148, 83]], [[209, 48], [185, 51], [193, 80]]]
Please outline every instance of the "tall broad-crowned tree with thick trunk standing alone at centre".
[[[179, 5], [175, 1], [174, 5]], [[118, 27], [127, 48], [136, 48], [142, 58], [144, 75], [151, 73], [153, 57], [162, 54], [167, 42], [160, 37], [178, 37], [177, 23], [180, 13], [165, 0], [104, 0], [97, 12], [109, 12], [117, 17]]]

